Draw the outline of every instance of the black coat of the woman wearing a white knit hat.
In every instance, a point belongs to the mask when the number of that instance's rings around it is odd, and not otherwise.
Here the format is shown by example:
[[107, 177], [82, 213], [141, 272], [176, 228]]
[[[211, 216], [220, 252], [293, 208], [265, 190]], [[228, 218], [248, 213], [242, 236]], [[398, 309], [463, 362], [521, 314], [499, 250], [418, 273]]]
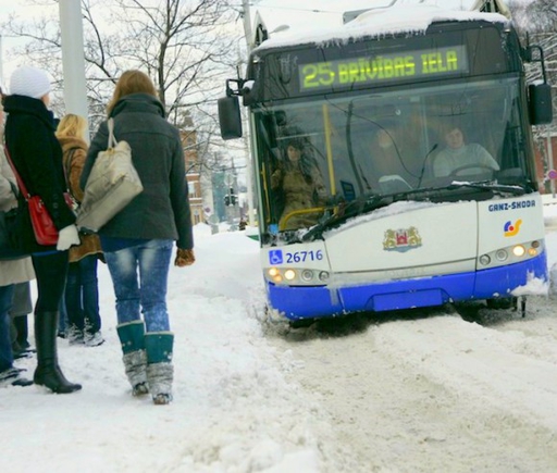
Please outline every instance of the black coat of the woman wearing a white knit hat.
[[[62, 148], [54, 136], [52, 112], [39, 99], [24, 96], [4, 98], [5, 145], [29, 194], [42, 198], [55, 227], [60, 231], [75, 223], [75, 214], [64, 200], [66, 191], [62, 167]], [[23, 197], [20, 197], [20, 203]], [[25, 251], [55, 250], [35, 240], [28, 214], [18, 226], [20, 244]]]

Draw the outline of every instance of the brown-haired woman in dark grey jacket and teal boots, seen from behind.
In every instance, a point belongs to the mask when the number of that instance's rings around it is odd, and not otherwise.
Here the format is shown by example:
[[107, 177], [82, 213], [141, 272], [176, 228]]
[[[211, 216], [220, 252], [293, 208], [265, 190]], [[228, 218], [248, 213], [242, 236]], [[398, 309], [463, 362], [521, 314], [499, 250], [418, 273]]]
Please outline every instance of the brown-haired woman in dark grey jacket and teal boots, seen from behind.
[[[126, 71], [119, 78], [108, 116], [114, 121], [115, 139], [132, 148], [144, 186], [99, 229], [116, 297], [124, 368], [134, 396], [150, 393], [156, 404], [168, 404], [174, 377], [174, 334], [166, 310], [173, 242], [176, 266], [195, 262], [183, 144], [165, 119], [153, 83], [140, 71]], [[108, 139], [108, 122], [103, 122], [89, 147], [82, 188]]]

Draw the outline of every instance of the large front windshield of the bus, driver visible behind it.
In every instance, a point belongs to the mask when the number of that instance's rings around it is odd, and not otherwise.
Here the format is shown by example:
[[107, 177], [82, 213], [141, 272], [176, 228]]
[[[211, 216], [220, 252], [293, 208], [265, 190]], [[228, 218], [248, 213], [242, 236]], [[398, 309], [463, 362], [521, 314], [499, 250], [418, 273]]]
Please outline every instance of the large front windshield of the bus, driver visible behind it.
[[451, 183], [534, 190], [519, 94], [507, 75], [255, 108], [262, 229], [309, 228], [371, 195], [416, 200], [446, 189], [436, 199], [455, 200]]

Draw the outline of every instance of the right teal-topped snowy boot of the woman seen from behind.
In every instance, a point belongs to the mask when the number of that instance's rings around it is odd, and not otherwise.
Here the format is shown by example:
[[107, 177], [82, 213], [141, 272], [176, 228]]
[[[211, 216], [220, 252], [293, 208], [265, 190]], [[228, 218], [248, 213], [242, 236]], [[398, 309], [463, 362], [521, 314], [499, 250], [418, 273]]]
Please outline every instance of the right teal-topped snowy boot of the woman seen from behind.
[[148, 332], [145, 334], [147, 350], [147, 379], [156, 404], [168, 404], [172, 401], [172, 349], [174, 334], [172, 332]]

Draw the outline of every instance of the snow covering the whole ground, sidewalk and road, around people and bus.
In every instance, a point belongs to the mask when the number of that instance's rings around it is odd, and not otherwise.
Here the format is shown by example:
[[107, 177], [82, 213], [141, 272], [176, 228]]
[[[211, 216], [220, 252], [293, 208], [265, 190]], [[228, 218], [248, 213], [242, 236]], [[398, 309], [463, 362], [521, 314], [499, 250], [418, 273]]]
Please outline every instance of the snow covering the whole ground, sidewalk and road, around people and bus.
[[[545, 214], [553, 267], [557, 206]], [[557, 471], [552, 297], [524, 319], [445, 309], [284, 332], [260, 320], [257, 241], [198, 226], [196, 254], [170, 277], [174, 402], [131, 396], [101, 265], [107, 343], [60, 340], [77, 394], [0, 389], [0, 472]]]

